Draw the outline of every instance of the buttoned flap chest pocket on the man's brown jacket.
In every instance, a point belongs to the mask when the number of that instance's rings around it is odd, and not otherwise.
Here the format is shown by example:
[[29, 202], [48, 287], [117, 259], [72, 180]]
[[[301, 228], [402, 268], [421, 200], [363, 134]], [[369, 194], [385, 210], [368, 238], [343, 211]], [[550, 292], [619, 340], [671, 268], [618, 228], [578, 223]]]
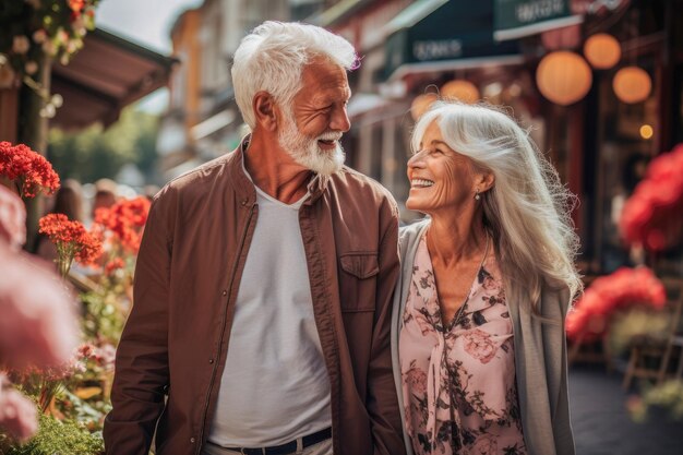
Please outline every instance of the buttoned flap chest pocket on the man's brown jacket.
[[342, 311], [374, 311], [380, 264], [376, 252], [352, 252], [339, 256]]

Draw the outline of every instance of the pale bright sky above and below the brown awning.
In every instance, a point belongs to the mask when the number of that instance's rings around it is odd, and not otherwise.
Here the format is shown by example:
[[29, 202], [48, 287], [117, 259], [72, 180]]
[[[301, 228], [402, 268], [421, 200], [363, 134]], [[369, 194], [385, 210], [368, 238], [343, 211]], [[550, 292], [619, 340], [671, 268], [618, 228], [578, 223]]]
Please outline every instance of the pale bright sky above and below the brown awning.
[[[157, 52], [171, 51], [170, 27], [176, 17], [203, 0], [101, 0], [97, 8], [97, 26]], [[139, 105], [141, 109], [160, 112], [166, 108], [166, 88], [156, 91]]]

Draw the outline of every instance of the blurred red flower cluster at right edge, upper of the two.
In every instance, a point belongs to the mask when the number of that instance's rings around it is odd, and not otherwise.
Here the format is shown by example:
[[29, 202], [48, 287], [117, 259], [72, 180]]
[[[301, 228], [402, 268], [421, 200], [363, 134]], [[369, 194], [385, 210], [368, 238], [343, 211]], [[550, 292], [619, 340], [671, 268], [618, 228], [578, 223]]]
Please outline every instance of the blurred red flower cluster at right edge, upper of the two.
[[626, 201], [620, 219], [628, 244], [661, 251], [681, 241], [683, 219], [683, 144], [655, 158]]

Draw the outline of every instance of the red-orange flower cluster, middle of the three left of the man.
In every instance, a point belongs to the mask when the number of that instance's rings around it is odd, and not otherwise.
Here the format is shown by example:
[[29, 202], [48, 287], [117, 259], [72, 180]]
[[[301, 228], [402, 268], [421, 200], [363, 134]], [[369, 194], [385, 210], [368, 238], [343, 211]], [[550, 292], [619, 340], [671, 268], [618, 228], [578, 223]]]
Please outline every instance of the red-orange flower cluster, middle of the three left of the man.
[[101, 255], [101, 241], [85, 230], [80, 221], [71, 221], [63, 214], [49, 214], [40, 218], [40, 232], [57, 247], [57, 263], [65, 277], [75, 259], [83, 265], [95, 262]]

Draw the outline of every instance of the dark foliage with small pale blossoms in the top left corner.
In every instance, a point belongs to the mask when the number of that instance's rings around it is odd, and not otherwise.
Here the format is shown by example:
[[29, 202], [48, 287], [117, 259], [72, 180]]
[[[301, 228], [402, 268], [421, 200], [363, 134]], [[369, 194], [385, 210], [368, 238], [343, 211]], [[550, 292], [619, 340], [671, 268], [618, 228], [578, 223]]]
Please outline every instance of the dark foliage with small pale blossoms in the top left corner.
[[[95, 28], [99, 0], [14, 0], [0, 9], [0, 87], [38, 71], [40, 56], [62, 64], [83, 47]], [[20, 77], [16, 77], [16, 75]]]

